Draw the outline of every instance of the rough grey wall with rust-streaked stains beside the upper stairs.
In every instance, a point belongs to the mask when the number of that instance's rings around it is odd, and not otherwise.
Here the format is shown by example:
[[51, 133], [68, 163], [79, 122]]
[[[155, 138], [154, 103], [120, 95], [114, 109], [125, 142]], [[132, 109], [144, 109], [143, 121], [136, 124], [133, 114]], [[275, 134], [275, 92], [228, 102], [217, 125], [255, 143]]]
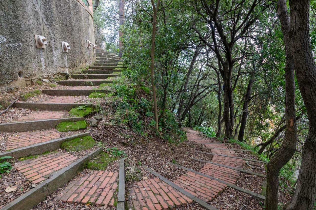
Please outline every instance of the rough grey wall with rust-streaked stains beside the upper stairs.
[[[46, 37], [46, 49], [36, 48], [34, 34]], [[0, 1], [0, 89], [92, 63], [86, 39], [94, 43], [93, 17], [81, 0]]]

